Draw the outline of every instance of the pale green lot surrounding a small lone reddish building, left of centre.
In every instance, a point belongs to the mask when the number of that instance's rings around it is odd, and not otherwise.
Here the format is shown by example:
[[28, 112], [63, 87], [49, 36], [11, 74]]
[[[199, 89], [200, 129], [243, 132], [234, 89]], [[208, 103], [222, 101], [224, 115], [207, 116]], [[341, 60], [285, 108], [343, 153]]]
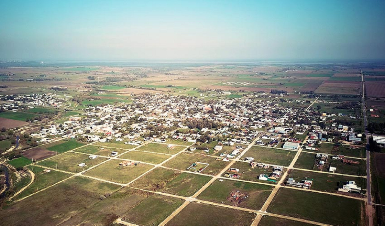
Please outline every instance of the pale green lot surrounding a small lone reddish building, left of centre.
[[100, 179], [114, 181], [117, 183], [129, 183], [147, 170], [151, 169], [151, 165], [139, 164], [137, 166], [119, 166], [122, 160], [111, 160], [100, 166], [87, 171], [85, 175], [94, 176]]

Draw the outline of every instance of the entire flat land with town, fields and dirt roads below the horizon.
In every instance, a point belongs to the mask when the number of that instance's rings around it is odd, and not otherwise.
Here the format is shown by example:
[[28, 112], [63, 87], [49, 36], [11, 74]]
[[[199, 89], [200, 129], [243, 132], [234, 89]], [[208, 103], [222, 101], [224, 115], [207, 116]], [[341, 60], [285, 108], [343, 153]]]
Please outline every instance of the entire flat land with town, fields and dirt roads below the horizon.
[[1, 63], [3, 225], [384, 223], [385, 65]]

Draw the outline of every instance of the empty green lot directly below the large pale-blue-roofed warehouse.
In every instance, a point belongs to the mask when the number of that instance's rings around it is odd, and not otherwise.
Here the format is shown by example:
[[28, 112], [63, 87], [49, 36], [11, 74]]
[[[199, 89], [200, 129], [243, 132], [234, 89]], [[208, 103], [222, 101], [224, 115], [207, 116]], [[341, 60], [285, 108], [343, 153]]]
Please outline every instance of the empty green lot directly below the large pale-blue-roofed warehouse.
[[296, 151], [266, 148], [262, 146], [252, 146], [244, 154], [244, 157], [252, 157], [255, 159], [255, 162], [258, 163], [289, 166], [296, 153]]

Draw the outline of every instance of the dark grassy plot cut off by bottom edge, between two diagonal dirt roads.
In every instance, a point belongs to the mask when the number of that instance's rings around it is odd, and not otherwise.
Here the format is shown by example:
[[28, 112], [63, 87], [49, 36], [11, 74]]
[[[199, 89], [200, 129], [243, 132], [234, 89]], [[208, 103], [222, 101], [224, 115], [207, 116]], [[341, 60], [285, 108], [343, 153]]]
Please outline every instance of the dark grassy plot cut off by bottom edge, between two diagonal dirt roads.
[[190, 203], [166, 226], [245, 226], [251, 225], [256, 214], [212, 206], [201, 203]]

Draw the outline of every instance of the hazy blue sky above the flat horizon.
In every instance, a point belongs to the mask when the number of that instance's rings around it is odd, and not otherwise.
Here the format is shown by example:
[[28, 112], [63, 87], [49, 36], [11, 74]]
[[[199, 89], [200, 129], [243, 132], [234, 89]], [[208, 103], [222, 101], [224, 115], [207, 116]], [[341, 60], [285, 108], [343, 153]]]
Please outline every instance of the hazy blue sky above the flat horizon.
[[0, 0], [0, 60], [384, 60], [383, 0]]

